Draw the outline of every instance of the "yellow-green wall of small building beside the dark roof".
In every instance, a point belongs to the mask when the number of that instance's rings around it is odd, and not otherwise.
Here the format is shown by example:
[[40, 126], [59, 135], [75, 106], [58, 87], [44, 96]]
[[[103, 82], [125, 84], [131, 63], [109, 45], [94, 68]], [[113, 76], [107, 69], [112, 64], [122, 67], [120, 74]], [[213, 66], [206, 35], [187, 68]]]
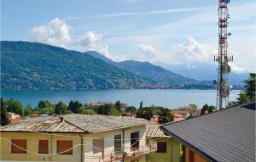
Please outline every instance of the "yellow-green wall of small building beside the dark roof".
[[[165, 141], [164, 139], [147, 139], [147, 143]], [[147, 162], [179, 162], [180, 161], [180, 143], [169, 138], [165, 141], [167, 145], [166, 153], [150, 153], [146, 155]]]

